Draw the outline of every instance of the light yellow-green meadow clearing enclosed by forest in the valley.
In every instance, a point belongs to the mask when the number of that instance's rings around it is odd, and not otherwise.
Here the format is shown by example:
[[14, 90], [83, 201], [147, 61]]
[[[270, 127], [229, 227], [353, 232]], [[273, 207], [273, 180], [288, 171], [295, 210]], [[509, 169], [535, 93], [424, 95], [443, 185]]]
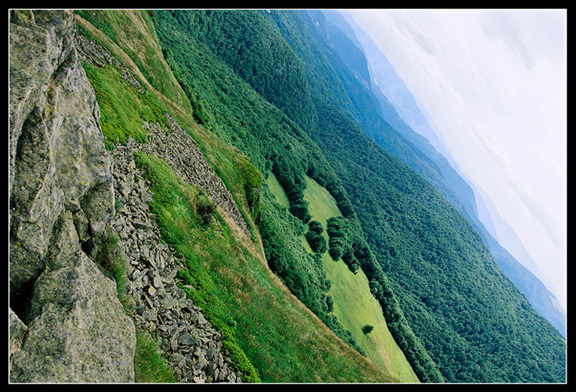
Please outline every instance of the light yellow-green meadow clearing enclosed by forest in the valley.
[[[304, 198], [310, 203], [308, 210], [313, 220], [319, 221], [326, 228], [329, 218], [342, 216], [336, 200], [326, 188], [310, 177], [306, 177], [306, 185]], [[326, 231], [323, 235], [328, 240]], [[303, 239], [303, 242], [312, 252], [307, 241]], [[334, 261], [328, 252], [322, 255], [322, 264], [332, 282], [329, 294], [334, 300], [334, 314], [342, 326], [352, 333], [368, 358], [381, 369], [396, 376], [400, 382], [419, 382], [404, 353], [390, 334], [382, 308], [371, 294], [368, 279], [362, 270], [352, 273], [342, 259]], [[362, 331], [365, 325], [373, 326], [372, 332], [365, 334]]]

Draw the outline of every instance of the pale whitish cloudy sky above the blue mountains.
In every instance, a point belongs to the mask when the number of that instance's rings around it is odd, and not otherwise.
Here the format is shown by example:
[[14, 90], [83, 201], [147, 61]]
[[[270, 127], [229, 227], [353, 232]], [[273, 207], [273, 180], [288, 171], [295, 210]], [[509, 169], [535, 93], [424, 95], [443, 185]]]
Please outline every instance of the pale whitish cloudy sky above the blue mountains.
[[[519, 236], [536, 263], [526, 267], [566, 308], [566, 11], [350, 14], [492, 211]], [[496, 224], [501, 244], [514, 254]]]

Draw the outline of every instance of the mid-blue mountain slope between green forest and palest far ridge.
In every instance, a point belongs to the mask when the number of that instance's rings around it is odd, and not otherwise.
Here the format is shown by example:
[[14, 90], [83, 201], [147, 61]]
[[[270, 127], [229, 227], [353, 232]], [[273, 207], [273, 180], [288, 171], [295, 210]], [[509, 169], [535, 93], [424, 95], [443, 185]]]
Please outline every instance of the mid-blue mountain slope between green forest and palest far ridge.
[[[386, 97], [374, 93], [373, 80], [360, 75], [370, 74], [369, 65], [362, 49], [356, 47], [341, 29], [351, 30], [337, 12], [307, 12], [311, 33], [336, 76], [353, 103], [350, 116], [374, 141], [392, 155], [398, 157], [416, 173], [434, 185], [463, 214], [476, 216], [476, 203], [472, 189], [452, 169], [421, 135], [414, 132], [398, 115]], [[351, 62], [348, 55], [351, 46], [356, 48]], [[358, 75], [352, 78], [351, 76]], [[379, 90], [377, 90], [379, 91]], [[355, 96], [361, 98], [354, 98]], [[370, 113], [366, 115], [364, 113]]]

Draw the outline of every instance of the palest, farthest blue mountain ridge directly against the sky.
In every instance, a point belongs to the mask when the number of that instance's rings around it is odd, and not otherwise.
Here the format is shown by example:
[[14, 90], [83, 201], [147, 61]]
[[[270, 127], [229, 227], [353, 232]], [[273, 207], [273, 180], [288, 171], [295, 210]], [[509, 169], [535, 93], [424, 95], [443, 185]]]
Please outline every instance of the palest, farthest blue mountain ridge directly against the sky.
[[[415, 145], [422, 154], [434, 162], [437, 172], [444, 178], [462, 204], [458, 203], [453, 195], [443, 191], [442, 187], [439, 187], [433, 178], [429, 178], [429, 180], [474, 225], [490, 248], [500, 268], [520, 291], [526, 295], [535, 309], [566, 337], [566, 316], [558, 307], [554, 295], [494, 238], [494, 223], [484, 201], [478, 192], [472, 190], [471, 187], [473, 185], [466, 180], [461, 172], [459, 173], [458, 164], [426, 121], [425, 115], [420, 111], [412, 93], [396, 74], [386, 55], [374, 44], [370, 36], [355, 23], [349, 13], [346, 11], [323, 11], [323, 13], [326, 15], [327, 25], [329, 25], [327, 30], [331, 32], [338, 30], [342, 34], [333, 33], [332, 35], [335, 39], [335, 51], [339, 53], [343, 61], [349, 67], [362, 66], [368, 68], [370, 90], [380, 104], [383, 117]], [[336, 40], [336, 38], [339, 38], [339, 40]], [[344, 42], [338, 45], [340, 41]], [[353, 42], [366, 56], [365, 61], [356, 60], [354, 63], [346, 61], [348, 57], [343, 56], [343, 54], [346, 53], [346, 48]], [[356, 54], [350, 57], [358, 56]], [[359, 75], [366, 74], [362, 69], [353, 69], [353, 71], [356, 71]], [[420, 135], [423, 135], [427, 140], [421, 138]], [[394, 153], [394, 147], [387, 146], [378, 137], [375, 140], [388, 151]], [[402, 156], [399, 155], [399, 157], [402, 159]], [[410, 165], [409, 162], [406, 163]], [[480, 209], [477, 208], [478, 205], [480, 205]]]

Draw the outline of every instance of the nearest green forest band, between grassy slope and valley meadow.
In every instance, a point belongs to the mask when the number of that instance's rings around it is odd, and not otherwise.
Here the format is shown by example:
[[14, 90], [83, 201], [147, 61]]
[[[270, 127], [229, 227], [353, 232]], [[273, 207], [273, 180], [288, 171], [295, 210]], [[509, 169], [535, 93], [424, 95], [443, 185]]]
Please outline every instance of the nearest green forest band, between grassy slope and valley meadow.
[[[191, 22], [195, 16], [182, 13], [155, 12], [155, 27], [166, 60], [195, 108], [196, 117], [223, 140], [245, 152], [260, 171], [272, 171], [290, 201], [290, 213], [287, 213], [266, 192], [260, 195], [259, 229], [271, 269], [331, 330], [361, 352], [350, 332], [331, 313], [333, 303], [327, 295], [330, 283], [319, 255], [309, 255], [299, 240], [304, 234], [303, 225], [310, 221], [303, 197], [304, 176], [310, 176], [328, 189], [343, 216], [354, 220], [356, 214], [342, 182], [296, 121], [268, 104], [245, 80], [231, 72], [230, 66], [213, 54], [214, 45], [197, 39], [197, 31], [202, 27]], [[206, 20], [205, 16], [198, 21]], [[315, 128], [315, 117], [314, 113], [311, 120], [300, 120], [300, 123]], [[347, 260], [357, 259], [352, 247], [348, 246], [347, 250]], [[402, 329], [406, 333], [409, 330], [407, 325]], [[412, 340], [405, 340], [412, 341], [413, 334]], [[426, 357], [426, 353], [422, 348], [407, 356]], [[417, 372], [421, 380], [440, 379], [426, 376], [426, 372], [434, 373], [434, 369]]]

